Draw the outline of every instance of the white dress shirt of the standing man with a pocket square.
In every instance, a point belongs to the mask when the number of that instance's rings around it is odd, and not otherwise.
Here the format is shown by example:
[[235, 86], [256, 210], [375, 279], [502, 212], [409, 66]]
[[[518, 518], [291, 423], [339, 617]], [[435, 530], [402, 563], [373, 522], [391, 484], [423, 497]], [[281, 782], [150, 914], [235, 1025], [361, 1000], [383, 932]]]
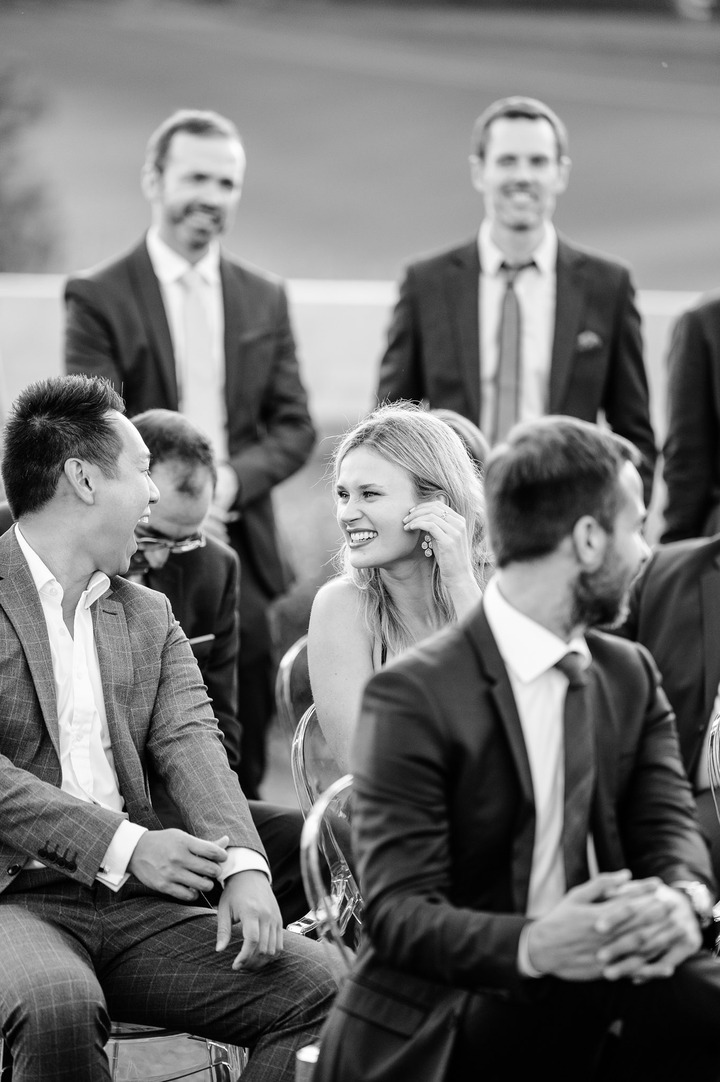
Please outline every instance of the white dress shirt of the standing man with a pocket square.
[[[500, 314], [506, 279], [501, 272], [505, 255], [490, 237], [484, 219], [477, 235], [480, 253], [480, 391], [482, 432], [493, 431], [495, 378], [498, 366]], [[548, 411], [552, 339], [555, 330], [558, 235], [546, 223], [545, 235], [533, 252], [534, 267], [515, 279], [521, 313], [521, 386], [519, 421], [532, 421]]]

